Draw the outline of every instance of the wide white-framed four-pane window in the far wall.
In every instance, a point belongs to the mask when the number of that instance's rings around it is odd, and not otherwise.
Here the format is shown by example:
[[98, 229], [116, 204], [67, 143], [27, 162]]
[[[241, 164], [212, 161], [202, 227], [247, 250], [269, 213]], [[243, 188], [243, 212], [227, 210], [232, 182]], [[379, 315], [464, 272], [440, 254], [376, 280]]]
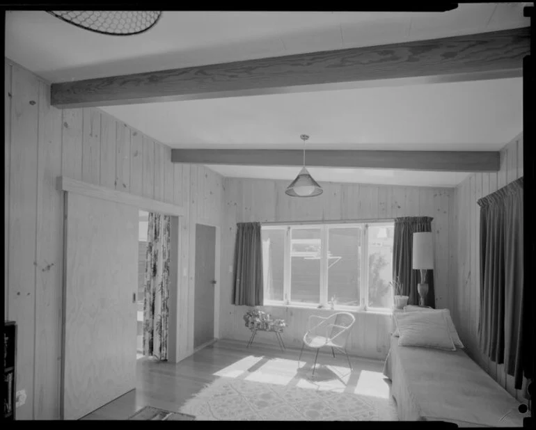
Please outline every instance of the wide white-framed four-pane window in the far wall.
[[393, 222], [263, 225], [265, 304], [388, 308]]

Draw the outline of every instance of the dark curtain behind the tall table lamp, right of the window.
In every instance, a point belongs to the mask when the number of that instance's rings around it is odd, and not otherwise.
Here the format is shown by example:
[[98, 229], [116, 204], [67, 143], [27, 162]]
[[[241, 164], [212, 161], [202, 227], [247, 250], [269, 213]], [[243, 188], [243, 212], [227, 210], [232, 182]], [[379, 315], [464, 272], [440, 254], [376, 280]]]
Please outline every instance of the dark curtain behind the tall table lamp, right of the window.
[[[420, 271], [411, 268], [413, 255], [413, 233], [431, 232], [432, 219], [429, 216], [403, 216], [395, 218], [393, 237], [393, 279], [398, 278], [402, 283], [403, 296], [409, 296], [410, 305], [419, 304], [417, 285], [420, 281]], [[425, 305], [435, 308], [434, 271], [427, 271], [428, 294]]]

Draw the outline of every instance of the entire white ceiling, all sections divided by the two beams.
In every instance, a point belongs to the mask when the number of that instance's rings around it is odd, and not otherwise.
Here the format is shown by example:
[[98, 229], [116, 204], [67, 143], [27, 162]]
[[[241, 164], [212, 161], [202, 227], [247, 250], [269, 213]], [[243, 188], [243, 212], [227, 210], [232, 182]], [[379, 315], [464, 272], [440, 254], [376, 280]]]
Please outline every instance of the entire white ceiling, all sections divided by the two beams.
[[[171, 12], [114, 37], [44, 11], [8, 11], [6, 56], [70, 81], [382, 45], [528, 26], [527, 3], [461, 4], [446, 13]], [[522, 129], [521, 79], [228, 97], [103, 108], [174, 148], [498, 150]], [[210, 166], [222, 175], [292, 180], [294, 168]], [[455, 186], [466, 174], [311, 168], [319, 181]]]

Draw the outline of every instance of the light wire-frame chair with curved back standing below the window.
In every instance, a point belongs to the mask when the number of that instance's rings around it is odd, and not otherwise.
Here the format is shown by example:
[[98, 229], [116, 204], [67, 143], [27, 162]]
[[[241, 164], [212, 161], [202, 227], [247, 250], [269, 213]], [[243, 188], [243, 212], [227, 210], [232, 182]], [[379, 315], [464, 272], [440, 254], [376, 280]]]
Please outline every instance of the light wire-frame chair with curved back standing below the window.
[[309, 348], [316, 349], [313, 375], [315, 374], [318, 351], [320, 351], [320, 348], [322, 347], [330, 347], [331, 353], [333, 353], [333, 358], [335, 358], [335, 350], [344, 352], [350, 370], [352, 370], [352, 363], [350, 363], [350, 358], [346, 351], [346, 342], [348, 340], [348, 335], [350, 334], [350, 329], [355, 321], [356, 317], [349, 312], [337, 312], [331, 314], [329, 317], [311, 315], [308, 319], [307, 333], [304, 335], [304, 340], [301, 344], [298, 366], [301, 360], [301, 354], [304, 352], [304, 347], [307, 345]]

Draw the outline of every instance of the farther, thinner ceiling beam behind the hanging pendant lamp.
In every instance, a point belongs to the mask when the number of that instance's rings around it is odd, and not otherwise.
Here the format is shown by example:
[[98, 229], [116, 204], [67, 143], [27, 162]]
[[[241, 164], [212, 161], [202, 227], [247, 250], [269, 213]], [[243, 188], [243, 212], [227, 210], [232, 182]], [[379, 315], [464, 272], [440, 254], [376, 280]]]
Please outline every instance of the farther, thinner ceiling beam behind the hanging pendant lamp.
[[[301, 150], [171, 150], [173, 163], [301, 166]], [[499, 152], [308, 150], [308, 167], [496, 172]]]

